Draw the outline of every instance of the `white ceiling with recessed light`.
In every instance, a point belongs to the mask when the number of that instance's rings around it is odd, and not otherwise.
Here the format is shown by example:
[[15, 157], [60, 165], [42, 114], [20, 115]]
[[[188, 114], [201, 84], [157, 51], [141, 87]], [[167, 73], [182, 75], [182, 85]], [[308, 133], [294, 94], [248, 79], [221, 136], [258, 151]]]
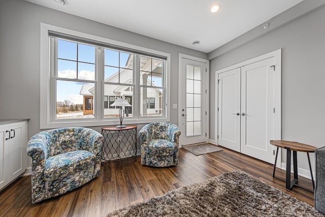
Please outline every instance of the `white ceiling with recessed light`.
[[[25, 1], [209, 53], [303, 0]], [[216, 3], [221, 10], [211, 13]]]

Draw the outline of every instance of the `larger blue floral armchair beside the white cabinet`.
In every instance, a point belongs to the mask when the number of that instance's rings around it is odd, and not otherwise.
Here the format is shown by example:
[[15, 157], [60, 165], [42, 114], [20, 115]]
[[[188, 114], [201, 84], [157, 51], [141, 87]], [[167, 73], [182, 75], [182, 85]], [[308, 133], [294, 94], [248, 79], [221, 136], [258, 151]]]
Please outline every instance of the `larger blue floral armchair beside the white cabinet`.
[[31, 201], [55, 197], [100, 175], [103, 136], [87, 128], [60, 128], [31, 137]]

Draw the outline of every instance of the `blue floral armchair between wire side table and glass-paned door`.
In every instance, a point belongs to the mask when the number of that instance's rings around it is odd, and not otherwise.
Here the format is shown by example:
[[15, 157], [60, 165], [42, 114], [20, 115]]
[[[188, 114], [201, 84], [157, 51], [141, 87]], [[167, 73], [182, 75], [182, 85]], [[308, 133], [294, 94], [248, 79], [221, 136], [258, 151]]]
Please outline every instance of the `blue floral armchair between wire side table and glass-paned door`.
[[178, 164], [178, 139], [181, 132], [170, 122], [154, 122], [140, 131], [141, 164], [168, 167]]

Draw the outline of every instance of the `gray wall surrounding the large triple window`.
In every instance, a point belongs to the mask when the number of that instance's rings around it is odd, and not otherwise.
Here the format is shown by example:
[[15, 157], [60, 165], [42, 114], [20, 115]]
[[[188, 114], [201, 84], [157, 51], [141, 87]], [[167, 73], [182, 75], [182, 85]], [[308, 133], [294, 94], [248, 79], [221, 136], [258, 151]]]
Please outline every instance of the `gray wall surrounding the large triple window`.
[[[41, 22], [170, 53], [171, 105], [178, 103], [178, 53], [207, 58], [206, 53], [22, 0], [0, 1], [0, 119], [30, 118], [28, 138], [40, 132]], [[171, 121], [178, 122], [176, 109], [171, 109]]]

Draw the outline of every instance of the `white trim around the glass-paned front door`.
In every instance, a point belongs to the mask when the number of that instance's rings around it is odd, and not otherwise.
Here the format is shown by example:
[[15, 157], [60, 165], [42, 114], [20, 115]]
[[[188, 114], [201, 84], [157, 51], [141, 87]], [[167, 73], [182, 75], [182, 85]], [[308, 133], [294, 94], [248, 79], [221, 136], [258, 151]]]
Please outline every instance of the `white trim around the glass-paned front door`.
[[[202, 63], [206, 64], [206, 69], [207, 69], [207, 76], [206, 76], [206, 89], [207, 91], [207, 99], [206, 99], [206, 111], [207, 111], [207, 115], [206, 115], [206, 131], [207, 131], [207, 136], [206, 136], [206, 142], [209, 141], [210, 138], [210, 134], [209, 134], [209, 77], [210, 77], [210, 61], [208, 59], [203, 59], [200, 57], [196, 57], [196, 56], [190, 56], [187, 54], [183, 54], [183, 53], [179, 53], [178, 55], [178, 125], [182, 122], [182, 111], [180, 109], [180, 105], [182, 103], [181, 101], [181, 93], [182, 93], [182, 89], [184, 88], [182, 86], [182, 58], [184, 59], [190, 59], [190, 60], [194, 60], [194, 61], [199, 61]], [[185, 132], [181, 132], [181, 133], [185, 133]], [[181, 143], [179, 143], [179, 146], [181, 147]]]

